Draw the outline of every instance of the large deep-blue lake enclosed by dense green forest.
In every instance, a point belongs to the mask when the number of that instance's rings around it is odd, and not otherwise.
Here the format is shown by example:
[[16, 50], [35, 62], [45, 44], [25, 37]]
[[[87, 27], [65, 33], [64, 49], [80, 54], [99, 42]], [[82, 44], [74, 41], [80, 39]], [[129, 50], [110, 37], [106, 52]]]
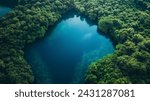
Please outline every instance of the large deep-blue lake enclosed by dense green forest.
[[83, 83], [89, 64], [114, 52], [113, 43], [86, 18], [68, 14], [45, 38], [25, 48], [35, 83]]

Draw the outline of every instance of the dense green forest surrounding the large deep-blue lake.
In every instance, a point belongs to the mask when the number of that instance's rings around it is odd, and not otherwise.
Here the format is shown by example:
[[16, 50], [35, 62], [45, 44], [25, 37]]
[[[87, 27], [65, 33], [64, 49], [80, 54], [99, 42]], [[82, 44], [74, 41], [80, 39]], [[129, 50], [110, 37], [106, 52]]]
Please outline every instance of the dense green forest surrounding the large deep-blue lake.
[[[149, 0], [5, 0], [12, 11], [0, 19], [0, 83], [34, 82], [24, 59], [27, 44], [44, 37], [71, 10], [111, 37], [115, 52], [89, 65], [85, 83], [150, 83]], [[11, 4], [11, 5], [10, 5]]]

